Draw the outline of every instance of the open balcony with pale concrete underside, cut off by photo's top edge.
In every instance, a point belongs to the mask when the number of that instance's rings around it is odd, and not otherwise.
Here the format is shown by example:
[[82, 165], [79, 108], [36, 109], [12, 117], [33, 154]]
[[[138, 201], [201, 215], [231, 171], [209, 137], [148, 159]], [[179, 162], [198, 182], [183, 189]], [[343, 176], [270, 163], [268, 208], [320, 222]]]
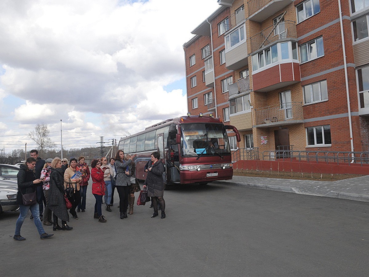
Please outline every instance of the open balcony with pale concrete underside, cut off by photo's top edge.
[[249, 0], [247, 2], [249, 19], [262, 22], [277, 11], [282, 10], [294, 0]]

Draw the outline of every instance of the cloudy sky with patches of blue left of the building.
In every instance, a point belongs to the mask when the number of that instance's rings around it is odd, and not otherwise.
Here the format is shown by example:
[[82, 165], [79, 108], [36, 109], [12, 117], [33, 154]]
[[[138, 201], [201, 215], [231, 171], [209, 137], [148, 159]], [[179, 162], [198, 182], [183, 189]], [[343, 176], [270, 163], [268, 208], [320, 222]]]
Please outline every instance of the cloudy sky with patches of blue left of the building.
[[184, 52], [217, 0], [1, 0], [0, 149], [97, 146], [187, 113]]

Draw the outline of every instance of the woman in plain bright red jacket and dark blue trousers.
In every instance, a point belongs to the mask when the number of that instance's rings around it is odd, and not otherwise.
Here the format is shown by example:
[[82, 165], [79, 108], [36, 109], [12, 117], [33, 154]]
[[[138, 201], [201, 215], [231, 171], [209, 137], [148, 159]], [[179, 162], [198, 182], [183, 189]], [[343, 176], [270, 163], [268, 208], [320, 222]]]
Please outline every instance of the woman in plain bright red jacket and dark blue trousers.
[[96, 199], [94, 218], [98, 218], [99, 222], [104, 223], [106, 219], [101, 212], [103, 195], [105, 194], [104, 171], [101, 170], [101, 162], [98, 160], [93, 160], [91, 162], [91, 167], [92, 194]]

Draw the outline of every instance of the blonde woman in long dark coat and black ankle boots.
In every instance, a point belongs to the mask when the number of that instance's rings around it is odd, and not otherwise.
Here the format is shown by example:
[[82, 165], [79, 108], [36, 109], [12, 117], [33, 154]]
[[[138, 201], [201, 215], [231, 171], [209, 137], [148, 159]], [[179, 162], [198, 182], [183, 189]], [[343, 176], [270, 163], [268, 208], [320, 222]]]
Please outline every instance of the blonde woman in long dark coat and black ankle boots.
[[[50, 192], [49, 192], [49, 209], [54, 212], [53, 230], [72, 230], [73, 227], [68, 226], [69, 222], [68, 210], [64, 199], [64, 168], [59, 158], [54, 158], [51, 162], [50, 175]], [[58, 219], [62, 220], [62, 227], [58, 224]]]

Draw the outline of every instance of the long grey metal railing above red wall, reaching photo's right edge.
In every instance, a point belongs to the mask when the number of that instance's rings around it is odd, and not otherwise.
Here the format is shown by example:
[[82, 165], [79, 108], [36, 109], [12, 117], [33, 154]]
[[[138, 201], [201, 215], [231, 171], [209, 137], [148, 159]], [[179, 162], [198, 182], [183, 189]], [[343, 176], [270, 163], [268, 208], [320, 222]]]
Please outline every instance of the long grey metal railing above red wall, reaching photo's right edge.
[[369, 164], [369, 152], [272, 150], [262, 153], [263, 160], [275, 161], [277, 158], [283, 161], [314, 161], [327, 164]]

